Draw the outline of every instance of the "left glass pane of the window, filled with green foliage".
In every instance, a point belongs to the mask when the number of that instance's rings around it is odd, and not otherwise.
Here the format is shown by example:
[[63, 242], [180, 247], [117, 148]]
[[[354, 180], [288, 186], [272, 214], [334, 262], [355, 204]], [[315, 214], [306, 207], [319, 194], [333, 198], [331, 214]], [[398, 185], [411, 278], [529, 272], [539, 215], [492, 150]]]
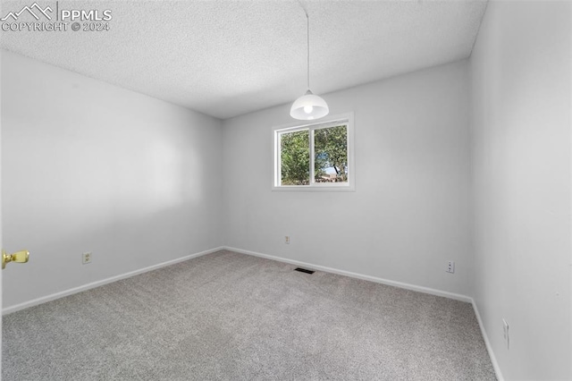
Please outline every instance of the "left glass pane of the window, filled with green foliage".
[[286, 132], [280, 135], [282, 185], [309, 185], [309, 131]]

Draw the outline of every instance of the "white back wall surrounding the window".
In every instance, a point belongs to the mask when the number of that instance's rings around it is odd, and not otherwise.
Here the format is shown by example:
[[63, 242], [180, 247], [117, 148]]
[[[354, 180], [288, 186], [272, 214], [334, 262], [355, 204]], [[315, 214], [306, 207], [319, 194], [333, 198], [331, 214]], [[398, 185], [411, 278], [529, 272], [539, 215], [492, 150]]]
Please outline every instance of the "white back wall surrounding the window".
[[226, 245], [470, 294], [468, 85], [461, 61], [325, 95], [355, 112], [355, 192], [271, 190], [290, 105], [224, 121]]

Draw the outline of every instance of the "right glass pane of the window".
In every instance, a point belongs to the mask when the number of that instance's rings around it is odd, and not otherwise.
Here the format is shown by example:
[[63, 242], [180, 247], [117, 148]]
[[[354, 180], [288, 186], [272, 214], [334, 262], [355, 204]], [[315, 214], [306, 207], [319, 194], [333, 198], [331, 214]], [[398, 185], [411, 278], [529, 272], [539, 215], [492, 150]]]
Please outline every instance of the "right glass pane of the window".
[[314, 131], [315, 182], [348, 182], [348, 126]]

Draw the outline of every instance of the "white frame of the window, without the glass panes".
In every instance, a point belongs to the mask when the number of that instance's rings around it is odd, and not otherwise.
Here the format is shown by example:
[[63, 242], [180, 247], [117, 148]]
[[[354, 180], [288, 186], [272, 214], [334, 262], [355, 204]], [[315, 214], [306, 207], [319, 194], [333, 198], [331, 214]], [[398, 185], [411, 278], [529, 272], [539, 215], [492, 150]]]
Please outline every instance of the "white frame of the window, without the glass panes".
[[[348, 182], [315, 182], [314, 168], [314, 133], [313, 131], [347, 125], [348, 133]], [[280, 135], [284, 132], [309, 130], [310, 144], [310, 183], [308, 185], [281, 185], [281, 147]], [[273, 127], [273, 185], [272, 190], [279, 191], [355, 191], [356, 190], [356, 159], [354, 150], [354, 113], [338, 114], [324, 117], [312, 123], [290, 123]]]

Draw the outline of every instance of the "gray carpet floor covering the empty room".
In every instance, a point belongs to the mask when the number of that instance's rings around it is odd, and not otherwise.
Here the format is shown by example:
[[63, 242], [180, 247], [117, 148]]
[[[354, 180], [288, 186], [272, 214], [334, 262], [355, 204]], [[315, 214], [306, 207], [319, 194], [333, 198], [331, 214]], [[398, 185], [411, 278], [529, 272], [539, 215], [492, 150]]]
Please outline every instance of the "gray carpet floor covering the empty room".
[[4, 317], [8, 380], [494, 380], [472, 306], [219, 251]]

